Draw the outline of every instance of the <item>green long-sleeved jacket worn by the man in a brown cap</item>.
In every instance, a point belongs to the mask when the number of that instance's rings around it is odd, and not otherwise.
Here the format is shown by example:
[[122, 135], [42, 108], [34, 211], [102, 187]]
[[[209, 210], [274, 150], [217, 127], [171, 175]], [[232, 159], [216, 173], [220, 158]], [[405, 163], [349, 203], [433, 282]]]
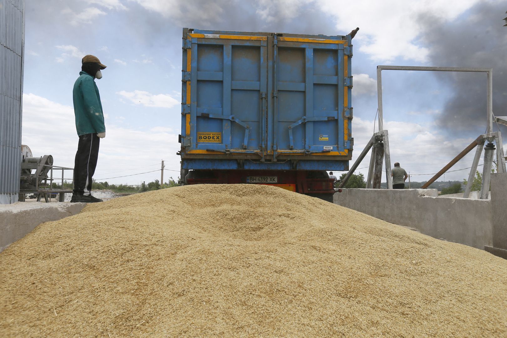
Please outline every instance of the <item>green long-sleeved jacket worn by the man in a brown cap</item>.
[[78, 136], [105, 132], [104, 114], [95, 79], [85, 71], [79, 72], [72, 96]]

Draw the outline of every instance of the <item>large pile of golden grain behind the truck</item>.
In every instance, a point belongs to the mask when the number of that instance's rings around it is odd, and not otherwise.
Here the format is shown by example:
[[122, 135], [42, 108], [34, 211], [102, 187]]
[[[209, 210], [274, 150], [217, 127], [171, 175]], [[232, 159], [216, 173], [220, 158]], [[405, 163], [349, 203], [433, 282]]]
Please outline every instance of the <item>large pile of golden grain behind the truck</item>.
[[507, 336], [507, 261], [265, 185], [88, 205], [0, 254], [0, 336]]

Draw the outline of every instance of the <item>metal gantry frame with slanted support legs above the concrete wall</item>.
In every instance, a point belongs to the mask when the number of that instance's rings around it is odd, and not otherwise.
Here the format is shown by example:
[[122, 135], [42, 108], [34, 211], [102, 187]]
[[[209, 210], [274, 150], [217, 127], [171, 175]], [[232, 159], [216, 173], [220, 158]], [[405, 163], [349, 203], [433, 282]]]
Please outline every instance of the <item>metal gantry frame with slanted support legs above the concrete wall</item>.
[[[461, 158], [463, 158], [468, 152], [470, 152], [476, 145], [476, 155], [470, 168], [470, 174], [468, 175], [468, 181], [465, 187], [463, 197], [468, 198], [470, 188], [481, 158], [482, 149], [486, 142], [488, 144], [484, 148], [484, 166], [481, 184], [481, 199], [488, 198], [489, 182], [491, 178], [491, 167], [493, 164], [493, 153], [496, 150], [497, 158], [497, 171], [507, 172], [505, 169], [505, 156], [503, 154], [503, 144], [500, 131], [492, 132], [493, 129], [493, 68], [469, 68], [469, 67], [421, 67], [421, 66], [377, 66], [377, 100], [378, 100], [378, 124], [379, 131], [374, 133], [368, 144], [366, 145], [363, 152], [359, 155], [359, 158], [352, 165], [343, 182], [339, 187], [343, 187], [349, 177], [352, 175], [354, 170], [359, 166], [361, 161], [365, 158], [366, 154], [373, 147], [372, 156], [370, 159], [370, 167], [368, 170], [367, 187], [373, 189], [380, 188], [380, 179], [382, 177], [382, 160], [385, 158], [386, 165], [386, 179], [387, 189], [392, 189], [392, 178], [391, 178], [391, 160], [389, 155], [389, 141], [387, 130], [384, 130], [383, 120], [383, 109], [382, 109], [382, 70], [422, 70], [422, 71], [462, 71], [462, 72], [482, 72], [487, 75], [486, 85], [486, 133], [480, 135], [475, 141], [470, 143], [458, 156], [456, 156], [451, 162], [449, 162], [442, 170], [436, 175], [431, 177], [423, 186], [422, 189], [427, 188], [432, 182], [437, 180], [447, 170], [449, 170], [454, 164], [456, 164]], [[493, 144], [493, 141], [496, 143]]]

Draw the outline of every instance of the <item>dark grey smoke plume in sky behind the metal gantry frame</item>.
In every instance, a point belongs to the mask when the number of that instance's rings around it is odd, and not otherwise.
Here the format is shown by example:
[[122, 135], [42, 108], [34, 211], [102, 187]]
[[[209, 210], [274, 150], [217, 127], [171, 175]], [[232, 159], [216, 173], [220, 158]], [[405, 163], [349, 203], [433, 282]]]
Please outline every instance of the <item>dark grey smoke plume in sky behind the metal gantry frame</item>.
[[[493, 68], [493, 114], [507, 115], [507, 27], [505, 4], [482, 2], [452, 23], [422, 18], [423, 41], [435, 66]], [[480, 134], [486, 129], [486, 74], [437, 73], [452, 89], [437, 121], [449, 133]], [[507, 128], [501, 126], [506, 133]], [[497, 126], [493, 123], [493, 130]]]

